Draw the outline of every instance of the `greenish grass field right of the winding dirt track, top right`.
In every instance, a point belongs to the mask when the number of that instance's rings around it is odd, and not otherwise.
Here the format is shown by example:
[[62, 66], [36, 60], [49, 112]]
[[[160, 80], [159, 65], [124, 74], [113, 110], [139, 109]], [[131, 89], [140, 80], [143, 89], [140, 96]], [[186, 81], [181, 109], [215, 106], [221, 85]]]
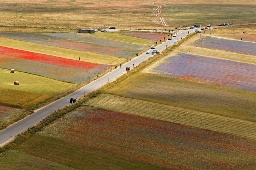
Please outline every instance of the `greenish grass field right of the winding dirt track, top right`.
[[162, 15], [173, 25], [208, 25], [220, 23], [237, 23], [256, 21], [255, 7], [221, 6], [221, 5], [184, 5], [171, 4], [163, 7]]

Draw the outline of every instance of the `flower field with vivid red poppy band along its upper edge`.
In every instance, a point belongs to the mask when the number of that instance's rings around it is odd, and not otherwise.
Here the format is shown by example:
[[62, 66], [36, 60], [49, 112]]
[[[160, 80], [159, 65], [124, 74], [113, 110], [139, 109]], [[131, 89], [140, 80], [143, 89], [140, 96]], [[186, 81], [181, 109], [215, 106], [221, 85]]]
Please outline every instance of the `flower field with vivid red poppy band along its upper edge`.
[[0, 67], [65, 82], [81, 83], [99, 75], [111, 66], [0, 46]]

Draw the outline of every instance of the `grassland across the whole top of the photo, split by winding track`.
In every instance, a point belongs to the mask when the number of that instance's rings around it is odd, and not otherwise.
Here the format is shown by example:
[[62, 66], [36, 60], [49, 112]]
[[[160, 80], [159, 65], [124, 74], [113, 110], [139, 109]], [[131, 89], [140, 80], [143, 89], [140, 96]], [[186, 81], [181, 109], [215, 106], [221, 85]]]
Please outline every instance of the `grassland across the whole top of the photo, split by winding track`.
[[[117, 28], [166, 28], [154, 16], [155, 0], [4, 0], [1, 2], [0, 25], [88, 28], [106, 25]], [[242, 1], [167, 1], [159, 0], [167, 24], [218, 24], [219, 22], [256, 21], [256, 3]], [[200, 11], [200, 12], [199, 12]], [[202, 17], [204, 16], [204, 17]]]

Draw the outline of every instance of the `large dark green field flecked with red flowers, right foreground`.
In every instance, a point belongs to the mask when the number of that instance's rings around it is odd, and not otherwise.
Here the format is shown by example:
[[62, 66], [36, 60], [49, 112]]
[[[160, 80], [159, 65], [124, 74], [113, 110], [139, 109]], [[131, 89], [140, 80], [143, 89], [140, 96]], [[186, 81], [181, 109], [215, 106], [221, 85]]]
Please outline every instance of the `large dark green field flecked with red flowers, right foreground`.
[[[136, 106], [136, 103], [132, 104]], [[141, 109], [147, 107], [144, 105]], [[134, 110], [137, 111], [137, 108]], [[94, 164], [93, 169], [102, 167], [102, 164], [113, 168], [120, 160], [126, 161], [127, 158], [169, 169], [236, 169], [241, 166], [255, 167], [255, 146], [255, 140], [80, 107], [47, 126], [19, 149], [26, 154], [77, 169], [79, 166], [90, 166], [90, 162]], [[86, 148], [93, 148], [94, 152], [88, 154], [89, 149]], [[71, 149], [73, 154], [68, 154]], [[108, 153], [108, 159], [105, 154], [99, 154], [102, 151]], [[88, 157], [90, 161], [80, 161]], [[113, 158], [115, 161], [112, 161]], [[131, 166], [131, 162], [125, 164], [126, 168]]]

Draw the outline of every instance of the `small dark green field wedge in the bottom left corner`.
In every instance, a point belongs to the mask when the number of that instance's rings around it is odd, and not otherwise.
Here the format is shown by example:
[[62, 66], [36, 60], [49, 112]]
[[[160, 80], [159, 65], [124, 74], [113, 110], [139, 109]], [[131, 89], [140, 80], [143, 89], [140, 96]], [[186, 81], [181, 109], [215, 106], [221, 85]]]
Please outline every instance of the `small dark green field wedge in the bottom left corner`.
[[72, 168], [64, 166], [62, 164], [54, 163], [52, 161], [44, 160], [39, 157], [34, 157], [28, 154], [24, 154], [20, 151], [7, 151], [0, 155], [0, 169], [41, 169], [41, 170], [70, 170]]

